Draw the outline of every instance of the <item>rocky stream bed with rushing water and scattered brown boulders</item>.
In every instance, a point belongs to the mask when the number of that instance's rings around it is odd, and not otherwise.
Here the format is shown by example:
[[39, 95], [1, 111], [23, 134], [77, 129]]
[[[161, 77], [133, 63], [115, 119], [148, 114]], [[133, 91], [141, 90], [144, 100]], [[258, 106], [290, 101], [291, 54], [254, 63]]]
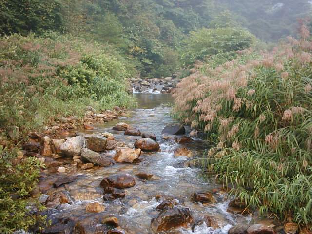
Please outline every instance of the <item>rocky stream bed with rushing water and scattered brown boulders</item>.
[[[51, 222], [41, 233], [284, 232], [273, 219], [250, 214], [225, 188], [190, 166], [210, 145], [189, 137], [190, 129], [169, 116], [169, 94], [135, 97], [139, 109], [110, 112], [116, 118], [92, 128], [50, 137], [33, 134], [25, 150], [39, 154], [46, 165], [36, 192], [43, 194], [40, 201], [48, 208], [43, 214]], [[295, 228], [285, 231], [295, 234]]]

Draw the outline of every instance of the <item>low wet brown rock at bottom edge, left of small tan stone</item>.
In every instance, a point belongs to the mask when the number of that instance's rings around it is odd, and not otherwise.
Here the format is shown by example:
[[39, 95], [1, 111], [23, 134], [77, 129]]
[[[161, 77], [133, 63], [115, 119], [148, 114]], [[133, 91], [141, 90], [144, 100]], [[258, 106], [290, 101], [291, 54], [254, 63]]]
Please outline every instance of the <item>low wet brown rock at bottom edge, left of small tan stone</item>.
[[85, 218], [76, 223], [74, 227], [74, 234], [103, 234], [107, 232], [104, 225], [97, 225], [93, 218]]

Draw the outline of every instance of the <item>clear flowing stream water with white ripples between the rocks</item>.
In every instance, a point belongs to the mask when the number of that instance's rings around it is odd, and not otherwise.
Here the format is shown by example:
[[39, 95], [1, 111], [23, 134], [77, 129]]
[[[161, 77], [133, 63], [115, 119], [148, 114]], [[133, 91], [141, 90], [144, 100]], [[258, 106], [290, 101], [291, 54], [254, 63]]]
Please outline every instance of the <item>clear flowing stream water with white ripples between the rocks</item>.
[[[222, 193], [220, 185], [204, 180], [196, 168], [185, 166], [187, 158], [174, 157], [173, 151], [177, 147], [187, 147], [193, 151], [207, 149], [209, 145], [200, 139], [194, 142], [179, 145], [161, 139], [161, 131], [166, 124], [175, 122], [170, 117], [173, 100], [168, 94], [134, 94], [139, 108], [134, 109], [128, 116], [98, 125], [95, 130], [87, 133], [111, 132], [115, 138], [132, 145], [140, 137], [125, 136], [123, 132], [112, 130], [117, 122], [126, 122], [139, 129], [142, 133], [154, 133], [160, 144], [161, 152], [143, 153], [141, 161], [135, 164], [115, 164], [108, 168], [93, 168], [87, 171], [73, 172], [73, 175], [84, 174], [78, 181], [65, 186], [66, 193], [71, 197], [71, 204], [59, 205], [48, 212], [53, 225], [69, 222], [68, 220], [81, 220], [85, 217], [92, 219], [94, 214], [85, 211], [87, 203], [98, 201], [105, 206], [105, 214], [114, 215], [119, 219], [120, 226], [129, 233], [153, 233], [151, 219], [158, 215], [156, 207], [161, 201], [156, 200], [157, 195], [175, 197], [181, 201], [181, 206], [188, 207], [194, 220], [202, 220], [204, 216], [212, 216], [218, 220], [220, 228], [213, 230], [205, 223], [191, 229], [179, 228], [164, 232], [165, 234], [211, 234], [227, 233], [235, 223], [246, 223], [251, 220], [249, 215], [234, 215], [227, 212], [229, 197]], [[189, 130], [187, 131], [189, 132]], [[187, 133], [188, 134], [188, 133]], [[114, 151], [111, 152], [114, 154]], [[152, 180], [145, 181], [136, 177], [136, 185], [126, 189], [126, 197], [104, 202], [100, 181], [116, 173], [128, 173], [134, 177], [137, 172], [153, 174]], [[49, 177], [48, 177], [49, 178]], [[46, 178], [46, 179], [48, 179]], [[218, 203], [201, 204], [191, 201], [195, 192], [215, 191]], [[100, 225], [95, 223], [94, 225]]]

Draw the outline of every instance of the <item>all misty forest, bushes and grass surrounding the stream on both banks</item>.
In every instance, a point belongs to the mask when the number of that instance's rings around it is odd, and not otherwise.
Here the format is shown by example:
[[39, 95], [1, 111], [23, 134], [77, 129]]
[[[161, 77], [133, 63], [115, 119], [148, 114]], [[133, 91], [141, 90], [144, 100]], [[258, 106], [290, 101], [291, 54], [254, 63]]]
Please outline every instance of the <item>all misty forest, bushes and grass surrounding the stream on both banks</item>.
[[246, 209], [311, 233], [311, 7], [1, 0], [0, 233], [47, 225], [33, 195], [45, 165], [33, 153], [21, 159], [22, 146], [45, 144], [36, 133], [55, 135], [64, 119], [88, 127], [86, 111], [133, 108], [130, 80], [164, 77], [179, 82], [173, 116], [214, 144], [192, 163]]

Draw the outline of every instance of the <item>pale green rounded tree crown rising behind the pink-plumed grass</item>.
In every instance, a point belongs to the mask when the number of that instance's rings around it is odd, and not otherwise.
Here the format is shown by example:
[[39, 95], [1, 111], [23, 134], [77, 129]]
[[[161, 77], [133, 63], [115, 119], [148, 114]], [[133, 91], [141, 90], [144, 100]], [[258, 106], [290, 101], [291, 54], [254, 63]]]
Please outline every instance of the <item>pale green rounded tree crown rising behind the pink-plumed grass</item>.
[[181, 61], [190, 65], [195, 60], [203, 60], [209, 55], [244, 50], [253, 45], [254, 36], [240, 28], [202, 28], [190, 33], [184, 40]]

